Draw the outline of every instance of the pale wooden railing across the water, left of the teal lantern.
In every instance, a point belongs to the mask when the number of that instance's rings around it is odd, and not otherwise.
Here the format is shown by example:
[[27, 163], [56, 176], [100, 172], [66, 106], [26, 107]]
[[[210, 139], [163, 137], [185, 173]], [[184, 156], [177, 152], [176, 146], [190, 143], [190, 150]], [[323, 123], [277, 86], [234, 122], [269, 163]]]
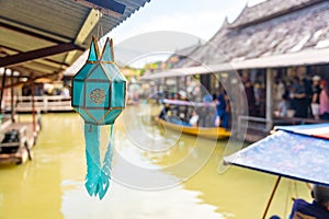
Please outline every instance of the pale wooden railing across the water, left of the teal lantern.
[[[11, 99], [4, 97], [4, 107], [11, 110]], [[73, 111], [71, 97], [63, 95], [34, 96], [36, 112], [67, 112]], [[32, 112], [32, 96], [14, 96], [14, 108], [18, 113]]]

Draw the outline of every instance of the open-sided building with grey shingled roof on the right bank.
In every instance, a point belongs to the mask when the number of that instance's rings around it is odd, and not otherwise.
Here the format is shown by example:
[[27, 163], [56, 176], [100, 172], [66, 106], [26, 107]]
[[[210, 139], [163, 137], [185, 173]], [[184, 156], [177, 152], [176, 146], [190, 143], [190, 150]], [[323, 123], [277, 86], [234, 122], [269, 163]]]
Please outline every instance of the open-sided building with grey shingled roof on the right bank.
[[[309, 79], [315, 74], [329, 79], [329, 1], [268, 0], [246, 7], [232, 23], [225, 20], [219, 31], [189, 57], [189, 61], [182, 60], [183, 65], [178, 61], [177, 68], [144, 79], [198, 76], [209, 93], [216, 92], [218, 81], [228, 90], [237, 90], [229, 80], [234, 72], [242, 80], [259, 81], [263, 88], [259, 112], [235, 107], [237, 119], [249, 123], [248, 131], [256, 129], [261, 134], [256, 138], [251, 135], [251, 141], [258, 140], [273, 125], [283, 123], [273, 116], [277, 80], [294, 76]], [[238, 104], [239, 100], [231, 102]]]

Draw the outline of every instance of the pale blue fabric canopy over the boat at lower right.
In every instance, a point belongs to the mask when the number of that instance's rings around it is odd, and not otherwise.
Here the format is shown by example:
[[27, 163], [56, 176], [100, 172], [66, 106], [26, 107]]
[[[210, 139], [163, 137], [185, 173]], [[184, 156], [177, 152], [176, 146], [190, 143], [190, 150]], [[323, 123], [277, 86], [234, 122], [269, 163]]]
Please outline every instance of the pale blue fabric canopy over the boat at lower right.
[[329, 123], [274, 129], [225, 163], [329, 186]]

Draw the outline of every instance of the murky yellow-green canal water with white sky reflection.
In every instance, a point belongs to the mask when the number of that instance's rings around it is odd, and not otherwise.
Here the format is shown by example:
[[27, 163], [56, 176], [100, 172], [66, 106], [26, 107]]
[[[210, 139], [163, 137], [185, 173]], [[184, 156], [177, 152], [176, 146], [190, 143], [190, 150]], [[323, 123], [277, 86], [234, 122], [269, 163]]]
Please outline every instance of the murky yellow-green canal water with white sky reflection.
[[[129, 106], [115, 123], [113, 181], [102, 200], [84, 189], [81, 118], [75, 113], [42, 115], [34, 160], [0, 168], [0, 219], [262, 217], [275, 176], [235, 166], [219, 174], [227, 141], [163, 130], [150, 114]], [[107, 127], [103, 145], [106, 132]], [[285, 218], [292, 197], [310, 199], [305, 183], [283, 178], [268, 216]]]

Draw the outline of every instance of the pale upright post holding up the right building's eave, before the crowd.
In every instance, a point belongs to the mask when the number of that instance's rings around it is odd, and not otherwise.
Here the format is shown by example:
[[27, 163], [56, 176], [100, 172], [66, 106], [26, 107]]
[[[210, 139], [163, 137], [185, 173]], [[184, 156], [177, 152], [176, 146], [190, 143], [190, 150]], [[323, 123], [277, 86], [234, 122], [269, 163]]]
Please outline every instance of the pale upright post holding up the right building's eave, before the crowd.
[[266, 69], [266, 130], [273, 128], [273, 72]]

